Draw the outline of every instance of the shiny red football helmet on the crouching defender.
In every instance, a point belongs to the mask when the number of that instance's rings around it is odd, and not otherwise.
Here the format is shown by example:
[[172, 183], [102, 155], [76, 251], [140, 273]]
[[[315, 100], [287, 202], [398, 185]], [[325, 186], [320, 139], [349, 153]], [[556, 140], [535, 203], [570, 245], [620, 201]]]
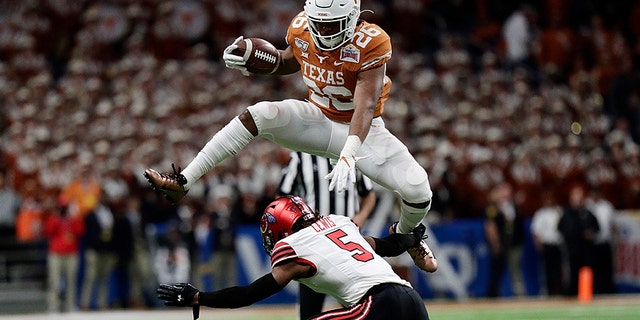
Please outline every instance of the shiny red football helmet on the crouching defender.
[[271, 255], [276, 242], [318, 220], [318, 214], [300, 197], [285, 196], [271, 202], [262, 214], [260, 233], [264, 251]]

